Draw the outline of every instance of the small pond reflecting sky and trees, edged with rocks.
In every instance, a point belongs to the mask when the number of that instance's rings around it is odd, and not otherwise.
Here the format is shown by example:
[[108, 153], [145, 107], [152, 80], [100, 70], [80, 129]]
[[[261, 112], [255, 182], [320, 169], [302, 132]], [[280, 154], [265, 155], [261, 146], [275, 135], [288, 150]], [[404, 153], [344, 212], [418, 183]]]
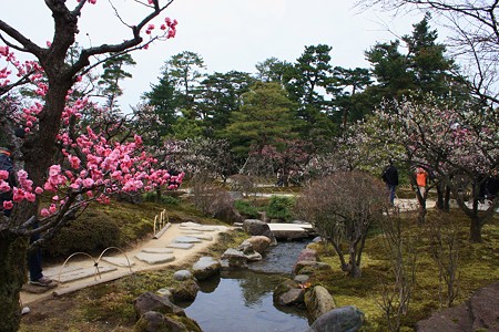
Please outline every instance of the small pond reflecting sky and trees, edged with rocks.
[[273, 292], [286, 277], [307, 242], [279, 242], [248, 270], [223, 271], [200, 283], [201, 291], [184, 307], [204, 332], [303, 332], [309, 326], [305, 309], [275, 307]]

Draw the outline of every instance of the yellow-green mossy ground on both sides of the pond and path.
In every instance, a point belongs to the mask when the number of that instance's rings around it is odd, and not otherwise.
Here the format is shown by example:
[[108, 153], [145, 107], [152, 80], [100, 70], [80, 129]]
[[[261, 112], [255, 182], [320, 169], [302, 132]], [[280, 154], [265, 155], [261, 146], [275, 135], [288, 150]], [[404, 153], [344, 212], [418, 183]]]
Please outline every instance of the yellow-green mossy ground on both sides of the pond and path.
[[[408, 194], [410, 195], [410, 194]], [[140, 206], [114, 203], [110, 206], [95, 206], [85, 211], [83, 218], [99, 219], [100, 222], [114, 222], [122, 234], [121, 240], [133, 242], [145, 236], [145, 227], [151, 227], [153, 217], [166, 208], [173, 222], [194, 220], [201, 224], [218, 221], [204, 218], [189, 204], [164, 206], [145, 203]], [[462, 303], [469, 295], [486, 284], [499, 279], [499, 217], [482, 229], [482, 243], [468, 240], [469, 221], [467, 217], [452, 211], [447, 216], [459, 227], [459, 293], [455, 304]], [[431, 214], [428, 215], [431, 218]], [[401, 331], [413, 331], [417, 321], [428, 318], [440, 308], [438, 268], [431, 260], [421, 228], [416, 216], [405, 216], [405, 232], [416, 241], [419, 253], [416, 271], [416, 287], [407, 315], [403, 318]], [[220, 222], [218, 222], [220, 224]], [[150, 228], [149, 228], [150, 229]], [[234, 247], [246, 237], [245, 234], [231, 231], [202, 255], [220, 256], [226, 248]], [[333, 267], [332, 271], [317, 272], [312, 282], [323, 284], [335, 298], [337, 305], [356, 305], [366, 314], [363, 331], [387, 331], [379, 302], [381, 282], [390, 280], [390, 268], [379, 230], [374, 230], [363, 255], [363, 277], [350, 279], [339, 270], [339, 261], [330, 247], [317, 247], [320, 260]], [[174, 271], [186, 266], [172, 266], [167, 269], [140, 272], [114, 282], [88, 288], [58, 299], [30, 304], [32, 312], [24, 315], [20, 331], [133, 331], [136, 320], [133, 300], [144, 291], [156, 291], [172, 287]]]

